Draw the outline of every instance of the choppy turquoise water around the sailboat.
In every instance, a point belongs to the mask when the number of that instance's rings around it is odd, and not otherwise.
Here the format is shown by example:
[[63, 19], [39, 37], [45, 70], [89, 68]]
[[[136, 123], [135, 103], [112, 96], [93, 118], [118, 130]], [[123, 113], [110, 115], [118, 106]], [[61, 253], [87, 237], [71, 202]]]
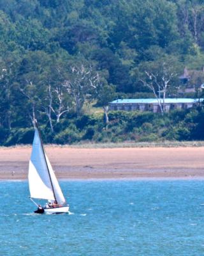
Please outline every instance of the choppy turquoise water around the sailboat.
[[64, 181], [71, 214], [0, 182], [0, 255], [204, 255], [204, 181]]

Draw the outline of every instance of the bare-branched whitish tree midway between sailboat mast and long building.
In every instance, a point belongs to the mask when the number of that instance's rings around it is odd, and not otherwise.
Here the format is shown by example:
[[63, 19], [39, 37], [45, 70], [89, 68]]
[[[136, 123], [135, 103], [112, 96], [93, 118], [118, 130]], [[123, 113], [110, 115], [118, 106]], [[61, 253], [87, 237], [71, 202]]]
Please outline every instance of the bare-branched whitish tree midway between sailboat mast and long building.
[[92, 67], [71, 67], [64, 87], [75, 102], [77, 116], [81, 115], [85, 100], [92, 99], [99, 82], [99, 75], [94, 74]]

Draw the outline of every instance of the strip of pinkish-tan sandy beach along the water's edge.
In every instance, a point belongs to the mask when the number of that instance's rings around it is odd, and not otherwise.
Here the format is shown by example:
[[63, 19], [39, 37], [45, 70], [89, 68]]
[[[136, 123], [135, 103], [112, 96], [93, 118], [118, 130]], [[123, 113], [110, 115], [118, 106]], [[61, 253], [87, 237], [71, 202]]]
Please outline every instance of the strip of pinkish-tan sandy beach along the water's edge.
[[[45, 147], [59, 179], [204, 179], [204, 147]], [[0, 148], [0, 179], [27, 179], [31, 147]]]

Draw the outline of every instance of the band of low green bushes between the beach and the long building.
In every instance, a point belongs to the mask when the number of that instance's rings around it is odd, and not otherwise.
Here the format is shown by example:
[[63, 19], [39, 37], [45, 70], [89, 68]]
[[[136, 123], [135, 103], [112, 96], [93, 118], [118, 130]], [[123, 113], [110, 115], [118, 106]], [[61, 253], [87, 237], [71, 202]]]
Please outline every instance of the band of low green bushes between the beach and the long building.
[[[165, 115], [112, 111], [110, 122], [105, 125], [102, 115], [64, 117], [55, 123], [54, 134], [49, 125], [40, 125], [45, 143], [73, 144], [79, 141], [120, 143], [122, 141], [189, 141], [204, 140], [204, 110], [175, 110]], [[25, 129], [0, 129], [1, 145], [31, 143], [33, 127]]]

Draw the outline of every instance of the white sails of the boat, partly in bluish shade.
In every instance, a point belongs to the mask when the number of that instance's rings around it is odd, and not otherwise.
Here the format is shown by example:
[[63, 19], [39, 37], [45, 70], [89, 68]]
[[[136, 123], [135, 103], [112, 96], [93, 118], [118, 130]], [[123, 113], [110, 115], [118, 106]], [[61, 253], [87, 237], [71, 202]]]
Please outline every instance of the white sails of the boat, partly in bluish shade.
[[58, 204], [65, 204], [66, 200], [64, 199], [50, 161], [44, 152], [37, 124], [29, 162], [28, 180], [32, 198], [56, 200]]

